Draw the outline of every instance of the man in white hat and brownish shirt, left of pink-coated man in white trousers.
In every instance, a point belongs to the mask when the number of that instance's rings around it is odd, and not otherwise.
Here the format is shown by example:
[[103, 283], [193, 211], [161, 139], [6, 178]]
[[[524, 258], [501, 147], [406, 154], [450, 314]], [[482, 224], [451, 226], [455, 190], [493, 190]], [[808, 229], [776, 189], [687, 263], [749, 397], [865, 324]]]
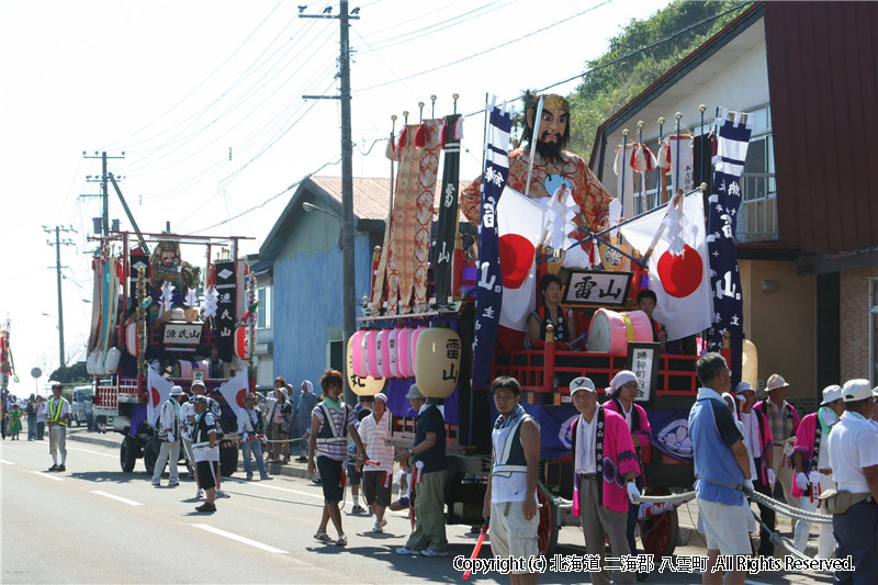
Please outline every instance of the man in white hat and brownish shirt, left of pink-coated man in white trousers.
[[[787, 381], [780, 374], [772, 374], [765, 384], [768, 398], [759, 401], [753, 408], [768, 419], [772, 427], [772, 469], [784, 487], [784, 498], [790, 506], [799, 507], [799, 498], [792, 496], [792, 446], [799, 429], [799, 413], [787, 402]], [[793, 527], [796, 519], [792, 520]]]

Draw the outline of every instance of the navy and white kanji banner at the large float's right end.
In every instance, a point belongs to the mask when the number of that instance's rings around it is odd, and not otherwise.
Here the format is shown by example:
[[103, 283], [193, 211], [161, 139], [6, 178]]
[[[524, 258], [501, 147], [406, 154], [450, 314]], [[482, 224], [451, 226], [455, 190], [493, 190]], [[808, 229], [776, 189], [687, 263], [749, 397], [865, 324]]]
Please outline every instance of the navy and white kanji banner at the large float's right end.
[[734, 249], [738, 210], [741, 207], [741, 173], [747, 157], [754, 116], [722, 110], [717, 119], [717, 154], [708, 202], [707, 245], [710, 254], [710, 284], [713, 293], [713, 327], [710, 347], [718, 350], [728, 333], [732, 349], [732, 385], [741, 380], [744, 302], [741, 273]]

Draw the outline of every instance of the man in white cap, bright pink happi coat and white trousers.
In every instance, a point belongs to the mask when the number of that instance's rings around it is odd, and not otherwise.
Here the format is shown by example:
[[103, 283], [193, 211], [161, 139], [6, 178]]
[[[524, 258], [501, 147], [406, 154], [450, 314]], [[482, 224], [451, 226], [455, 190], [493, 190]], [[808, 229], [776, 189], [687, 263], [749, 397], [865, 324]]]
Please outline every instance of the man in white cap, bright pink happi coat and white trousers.
[[[814, 511], [820, 504], [820, 494], [826, 490], [834, 490], [830, 455], [826, 452], [826, 441], [830, 430], [844, 413], [842, 402], [842, 386], [833, 384], [823, 389], [823, 402], [815, 413], [806, 415], [799, 424], [796, 434], [796, 446], [792, 449], [792, 463], [796, 466], [793, 482], [802, 492], [799, 497], [799, 507], [806, 511]], [[793, 531], [793, 543], [801, 552], [808, 545], [808, 533], [811, 522], [799, 520]], [[832, 526], [820, 525], [820, 540], [818, 541], [818, 559], [830, 559], [835, 550], [835, 540], [832, 538]]]

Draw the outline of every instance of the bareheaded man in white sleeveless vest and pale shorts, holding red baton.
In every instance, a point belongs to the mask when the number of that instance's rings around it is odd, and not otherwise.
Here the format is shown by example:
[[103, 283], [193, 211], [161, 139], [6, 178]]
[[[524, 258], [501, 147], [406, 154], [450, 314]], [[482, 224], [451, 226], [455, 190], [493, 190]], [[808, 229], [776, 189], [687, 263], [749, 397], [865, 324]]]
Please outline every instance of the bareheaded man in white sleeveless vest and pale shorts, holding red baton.
[[[502, 375], [491, 383], [499, 416], [491, 434], [493, 451], [482, 516], [491, 520], [491, 551], [499, 558], [537, 556], [537, 468], [540, 425], [518, 403], [521, 386]], [[537, 583], [537, 573], [513, 572], [513, 585]]]

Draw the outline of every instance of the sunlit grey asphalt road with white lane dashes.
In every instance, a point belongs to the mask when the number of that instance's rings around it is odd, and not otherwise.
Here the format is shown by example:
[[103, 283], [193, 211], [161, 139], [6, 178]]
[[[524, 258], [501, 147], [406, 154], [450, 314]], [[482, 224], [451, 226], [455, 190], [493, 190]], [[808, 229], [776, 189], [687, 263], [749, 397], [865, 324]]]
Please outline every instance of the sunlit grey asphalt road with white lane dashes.
[[[68, 440], [68, 471], [45, 473], [48, 441], [0, 443], [2, 574], [16, 583], [463, 583], [452, 565], [475, 542], [469, 527], [448, 527], [451, 558], [393, 553], [405, 543], [407, 517], [342, 513], [347, 548], [316, 542], [320, 488], [306, 480], [226, 479], [232, 495], [217, 513], [194, 511], [194, 483], [154, 488], [142, 471], [119, 471], [115, 449]], [[137, 469], [142, 469], [138, 465]], [[167, 476], [162, 480], [167, 483]], [[350, 509], [351, 503], [346, 505]], [[330, 529], [330, 533], [334, 532]], [[582, 532], [561, 531], [560, 554], [583, 554]], [[705, 554], [678, 548], [677, 554]], [[481, 556], [489, 555], [486, 545]], [[656, 564], [657, 571], [657, 564]], [[508, 583], [497, 573], [471, 582]], [[762, 573], [748, 583], [831, 583], [829, 575]], [[587, 573], [549, 572], [542, 583], [587, 583]], [[653, 573], [648, 583], [687, 584], [700, 575]]]

